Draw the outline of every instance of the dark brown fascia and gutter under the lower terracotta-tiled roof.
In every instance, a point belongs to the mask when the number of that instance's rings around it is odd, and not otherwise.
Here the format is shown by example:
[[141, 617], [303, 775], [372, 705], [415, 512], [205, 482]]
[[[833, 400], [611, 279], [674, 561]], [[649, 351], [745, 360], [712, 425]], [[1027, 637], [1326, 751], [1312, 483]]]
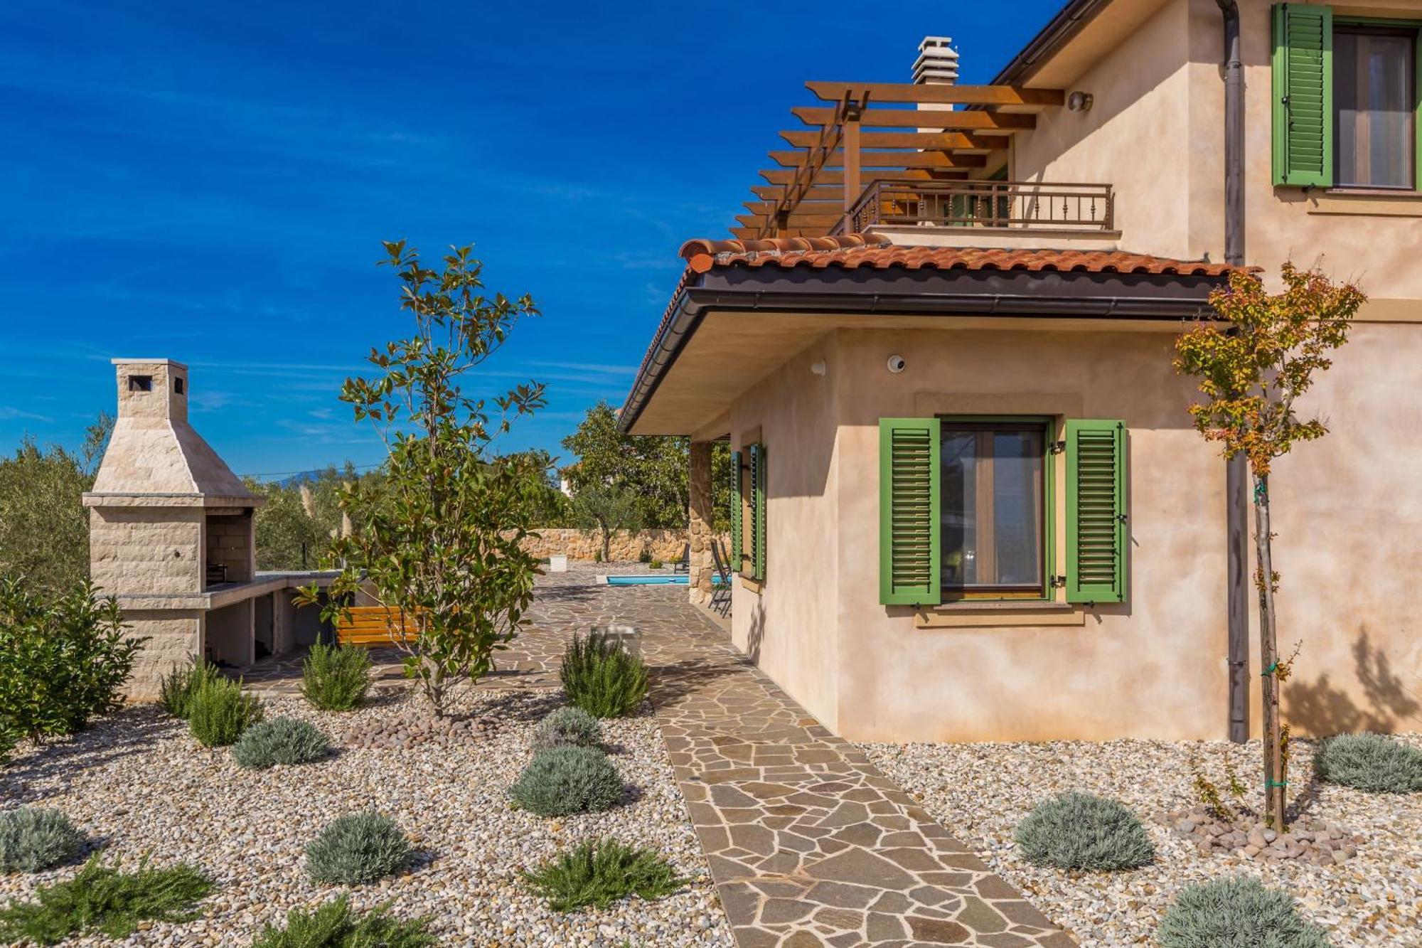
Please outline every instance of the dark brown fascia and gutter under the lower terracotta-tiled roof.
[[734, 266], [681, 290], [637, 372], [617, 418], [630, 431], [687, 340], [711, 312], [811, 312], [865, 316], [1000, 316], [1003, 319], [1209, 319], [1226, 276], [1055, 270], [782, 269]]

